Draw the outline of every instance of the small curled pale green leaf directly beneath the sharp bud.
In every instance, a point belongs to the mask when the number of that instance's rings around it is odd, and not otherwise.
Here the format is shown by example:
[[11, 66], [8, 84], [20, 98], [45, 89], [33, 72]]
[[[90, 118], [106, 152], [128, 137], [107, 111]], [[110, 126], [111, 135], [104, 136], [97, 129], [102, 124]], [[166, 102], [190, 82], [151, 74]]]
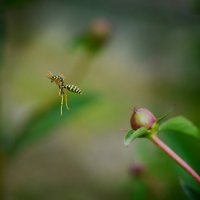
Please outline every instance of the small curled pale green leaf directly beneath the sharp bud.
[[124, 137], [124, 144], [128, 146], [134, 139], [142, 137], [147, 134], [146, 128], [139, 128], [136, 131], [130, 130]]

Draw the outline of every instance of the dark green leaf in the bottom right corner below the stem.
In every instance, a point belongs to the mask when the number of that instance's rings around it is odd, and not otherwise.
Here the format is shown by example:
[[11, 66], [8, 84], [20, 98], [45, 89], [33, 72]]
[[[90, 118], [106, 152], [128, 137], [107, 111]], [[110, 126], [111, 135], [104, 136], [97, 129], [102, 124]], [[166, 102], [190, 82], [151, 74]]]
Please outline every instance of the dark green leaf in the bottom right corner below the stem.
[[182, 189], [186, 196], [191, 200], [199, 200], [200, 199], [200, 191], [196, 188], [189, 186], [188, 184], [181, 182]]

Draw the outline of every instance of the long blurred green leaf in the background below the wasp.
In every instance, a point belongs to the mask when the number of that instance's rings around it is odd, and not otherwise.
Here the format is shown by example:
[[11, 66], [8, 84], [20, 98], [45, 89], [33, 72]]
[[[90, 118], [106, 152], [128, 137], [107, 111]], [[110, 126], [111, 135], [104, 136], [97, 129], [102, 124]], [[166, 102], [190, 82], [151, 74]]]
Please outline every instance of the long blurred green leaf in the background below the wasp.
[[9, 148], [9, 154], [14, 155], [19, 150], [30, 145], [32, 142], [48, 136], [54, 128], [61, 125], [63, 122], [69, 122], [81, 108], [89, 105], [94, 101], [95, 96], [79, 96], [71, 98], [70, 110], [64, 110], [63, 115], [60, 115], [60, 102], [55, 102], [52, 105], [40, 110], [27, 122]]

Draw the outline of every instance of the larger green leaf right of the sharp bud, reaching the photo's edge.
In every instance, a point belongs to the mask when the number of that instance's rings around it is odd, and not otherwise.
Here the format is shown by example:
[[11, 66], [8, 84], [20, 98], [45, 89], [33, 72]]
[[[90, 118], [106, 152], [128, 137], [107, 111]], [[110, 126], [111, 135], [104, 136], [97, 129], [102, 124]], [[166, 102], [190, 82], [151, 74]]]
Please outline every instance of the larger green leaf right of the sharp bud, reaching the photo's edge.
[[182, 116], [174, 117], [159, 127], [160, 132], [179, 132], [200, 139], [198, 128], [188, 119]]

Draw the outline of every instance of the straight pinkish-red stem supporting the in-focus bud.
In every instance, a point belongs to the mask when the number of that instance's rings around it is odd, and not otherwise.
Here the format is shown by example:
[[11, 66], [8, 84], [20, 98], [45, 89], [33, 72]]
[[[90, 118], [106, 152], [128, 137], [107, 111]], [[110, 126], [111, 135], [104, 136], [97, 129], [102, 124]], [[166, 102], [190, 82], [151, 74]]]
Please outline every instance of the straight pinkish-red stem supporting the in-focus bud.
[[156, 135], [152, 135], [150, 140], [162, 149], [169, 157], [175, 160], [188, 174], [190, 174], [199, 184], [200, 176], [174, 151], [172, 151], [165, 143], [163, 143]]

